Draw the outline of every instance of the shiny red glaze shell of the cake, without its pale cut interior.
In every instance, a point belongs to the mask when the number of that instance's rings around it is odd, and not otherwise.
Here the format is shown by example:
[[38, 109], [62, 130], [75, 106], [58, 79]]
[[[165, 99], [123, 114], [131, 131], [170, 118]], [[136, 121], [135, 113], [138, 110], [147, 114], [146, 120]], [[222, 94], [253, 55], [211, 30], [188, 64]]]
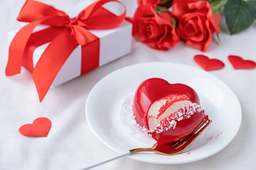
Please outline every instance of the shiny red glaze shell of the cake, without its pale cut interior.
[[[183, 84], [169, 84], [160, 78], [151, 78], [142, 82], [135, 93], [133, 111], [138, 124], [149, 129], [148, 110], [151, 105], [169, 95], [186, 95], [192, 103], [199, 104], [199, 98], [195, 90]], [[170, 143], [187, 136], [197, 129], [204, 118], [204, 113], [192, 115], [190, 119], [179, 121], [175, 129], [164, 131], [161, 134], [155, 132], [152, 136], [159, 143]], [[153, 118], [154, 119], [154, 118]]]

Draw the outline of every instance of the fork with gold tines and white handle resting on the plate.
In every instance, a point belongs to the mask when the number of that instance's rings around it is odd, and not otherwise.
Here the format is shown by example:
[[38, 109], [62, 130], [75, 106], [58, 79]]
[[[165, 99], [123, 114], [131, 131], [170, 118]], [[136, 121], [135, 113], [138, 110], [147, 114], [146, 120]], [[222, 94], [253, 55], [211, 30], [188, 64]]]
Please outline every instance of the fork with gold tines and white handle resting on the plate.
[[139, 153], [139, 152], [155, 152], [163, 155], [174, 155], [181, 153], [184, 151], [201, 133], [209, 126], [209, 124], [212, 122], [212, 120], [206, 119], [198, 128], [195, 130], [192, 134], [189, 136], [186, 136], [185, 138], [172, 142], [167, 144], [159, 144], [155, 143], [153, 147], [151, 148], [136, 148], [129, 151], [126, 151], [124, 153], [119, 153], [113, 157], [101, 160], [99, 162], [96, 162], [94, 164], [89, 165], [88, 167], [82, 169], [82, 170], [89, 170], [91, 168], [97, 167], [99, 165], [105, 164], [107, 162], [113, 161], [115, 159], [118, 159], [123, 156]]

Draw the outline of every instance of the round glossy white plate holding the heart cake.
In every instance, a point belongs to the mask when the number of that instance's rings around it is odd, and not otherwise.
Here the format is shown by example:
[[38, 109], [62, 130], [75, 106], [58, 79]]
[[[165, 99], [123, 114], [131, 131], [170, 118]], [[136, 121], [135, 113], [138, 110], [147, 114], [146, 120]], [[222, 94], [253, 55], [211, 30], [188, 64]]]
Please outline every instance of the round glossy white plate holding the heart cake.
[[94, 134], [106, 146], [116, 152], [151, 147], [125, 130], [120, 120], [120, 109], [122, 103], [134, 95], [138, 85], [152, 77], [194, 88], [201, 106], [213, 122], [183, 153], [172, 156], [138, 153], [129, 158], [158, 164], [193, 162], [219, 152], [236, 136], [242, 112], [236, 95], [227, 85], [198, 68], [154, 62], [118, 69], [101, 79], [91, 90], [85, 105], [87, 121]]

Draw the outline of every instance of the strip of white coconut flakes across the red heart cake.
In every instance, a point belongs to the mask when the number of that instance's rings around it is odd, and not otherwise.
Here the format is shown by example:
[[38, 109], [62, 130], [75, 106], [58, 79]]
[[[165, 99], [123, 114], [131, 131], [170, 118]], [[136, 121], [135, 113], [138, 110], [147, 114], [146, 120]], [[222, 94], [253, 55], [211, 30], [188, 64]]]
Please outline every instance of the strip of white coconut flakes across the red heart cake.
[[171, 128], [175, 129], [177, 121], [181, 121], [183, 119], [189, 119], [192, 115], [194, 115], [195, 113], [199, 113], [201, 111], [204, 111], [204, 110], [197, 103], [186, 105], [178, 109], [174, 114], [162, 119], [160, 121], [160, 124], [158, 124], [154, 130], [156, 133], [160, 134], [163, 131], [170, 130]]

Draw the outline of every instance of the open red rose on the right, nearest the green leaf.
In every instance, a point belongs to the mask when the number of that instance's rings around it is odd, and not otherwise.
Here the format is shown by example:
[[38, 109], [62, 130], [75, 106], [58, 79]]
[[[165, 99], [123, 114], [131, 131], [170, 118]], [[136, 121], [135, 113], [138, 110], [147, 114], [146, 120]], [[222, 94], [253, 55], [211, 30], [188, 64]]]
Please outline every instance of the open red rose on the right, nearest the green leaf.
[[181, 39], [201, 51], [207, 51], [214, 32], [220, 33], [220, 15], [213, 16], [208, 1], [173, 0], [172, 14], [178, 20]]

